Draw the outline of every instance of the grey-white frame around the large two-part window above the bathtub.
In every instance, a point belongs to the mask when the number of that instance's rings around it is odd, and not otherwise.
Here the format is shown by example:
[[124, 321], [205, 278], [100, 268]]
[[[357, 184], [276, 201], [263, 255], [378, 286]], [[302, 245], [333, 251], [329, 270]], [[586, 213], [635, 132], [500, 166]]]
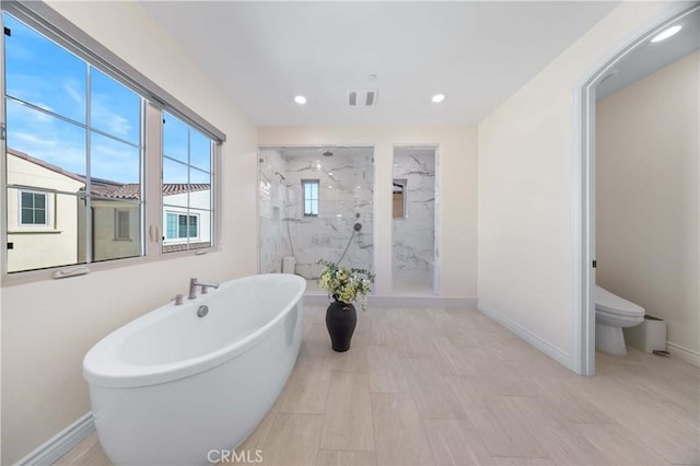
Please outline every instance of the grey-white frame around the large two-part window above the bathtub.
[[[47, 39], [58, 44], [69, 53], [78, 56], [89, 66], [97, 69], [110, 79], [125, 85], [141, 97], [142, 101], [142, 118], [141, 118], [141, 186], [142, 186], [142, 208], [140, 209], [140, 235], [142, 253], [138, 257], [125, 257], [109, 260], [92, 261], [89, 264], [75, 260], [74, 264], [46, 267], [40, 269], [31, 269], [23, 271], [8, 271], [8, 205], [7, 205], [7, 108], [5, 93], [0, 98], [0, 189], [4, 193], [4, 201], [0, 206], [0, 268], [1, 268], [1, 287], [34, 282], [50, 279], [52, 273], [60, 269], [72, 268], [75, 266], [88, 266], [92, 270], [114, 269], [129, 267], [131, 265], [143, 264], [148, 261], [159, 261], [163, 259], [175, 259], [183, 256], [199, 255], [207, 252], [218, 252], [220, 249], [219, 240], [222, 237], [221, 221], [221, 202], [222, 202], [222, 158], [223, 142], [226, 140], [225, 133], [220, 131], [205, 118], [191, 110], [176, 97], [168, 94], [153, 81], [141, 74], [126, 61], [121, 60], [114, 53], [102, 46], [97, 40], [78, 28], [70, 21], [66, 20], [55, 10], [50, 9], [43, 2], [19, 2], [3, 1], [0, 7], [0, 13], [9, 13], [14, 19], [33, 28]], [[3, 16], [0, 14], [0, 23], [4, 26]], [[4, 69], [4, 39], [3, 35], [0, 39], [0, 72], [5, 73]], [[168, 112], [175, 117], [182, 119], [185, 124], [190, 125], [195, 129], [208, 136], [214, 141], [212, 147], [211, 160], [211, 179], [213, 189], [211, 193], [211, 215], [212, 231], [211, 244], [206, 248], [178, 251], [163, 253], [160, 228], [162, 225], [163, 200], [161, 188], [162, 173], [162, 112]], [[32, 189], [30, 189], [32, 190]], [[18, 187], [18, 193], [20, 191]], [[38, 191], [40, 193], [40, 191]], [[44, 193], [47, 201], [47, 223], [48, 230], [52, 225], [54, 212], [51, 206], [51, 193]], [[20, 196], [21, 198], [21, 196]], [[21, 200], [20, 213], [21, 215]], [[21, 220], [21, 219], [18, 219]], [[131, 222], [130, 218], [130, 222]], [[115, 222], [116, 223], [116, 222]], [[40, 225], [37, 225], [40, 226]], [[23, 229], [37, 228], [35, 225], [22, 225]], [[116, 226], [116, 224], [115, 224]], [[45, 225], [46, 228], [46, 225]], [[201, 225], [198, 223], [198, 233]], [[115, 237], [118, 236], [115, 231]], [[133, 238], [131, 238], [133, 241]]]

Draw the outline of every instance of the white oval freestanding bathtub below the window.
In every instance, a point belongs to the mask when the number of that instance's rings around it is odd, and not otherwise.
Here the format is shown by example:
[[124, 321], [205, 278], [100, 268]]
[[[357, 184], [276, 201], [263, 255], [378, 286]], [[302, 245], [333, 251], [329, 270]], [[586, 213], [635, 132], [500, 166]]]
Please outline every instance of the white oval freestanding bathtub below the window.
[[96, 343], [83, 374], [107, 456], [116, 465], [203, 465], [237, 454], [296, 361], [305, 288], [287, 273], [232, 280]]

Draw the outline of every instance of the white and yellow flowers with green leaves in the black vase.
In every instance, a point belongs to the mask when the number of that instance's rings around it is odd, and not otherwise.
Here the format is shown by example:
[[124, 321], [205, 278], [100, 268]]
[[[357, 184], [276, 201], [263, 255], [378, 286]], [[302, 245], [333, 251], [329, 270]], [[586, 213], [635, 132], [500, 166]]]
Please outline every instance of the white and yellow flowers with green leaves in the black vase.
[[365, 269], [339, 266], [320, 259], [324, 271], [318, 279], [318, 286], [328, 292], [328, 298], [343, 303], [360, 300], [362, 311], [368, 307], [368, 293], [372, 291], [374, 273]]

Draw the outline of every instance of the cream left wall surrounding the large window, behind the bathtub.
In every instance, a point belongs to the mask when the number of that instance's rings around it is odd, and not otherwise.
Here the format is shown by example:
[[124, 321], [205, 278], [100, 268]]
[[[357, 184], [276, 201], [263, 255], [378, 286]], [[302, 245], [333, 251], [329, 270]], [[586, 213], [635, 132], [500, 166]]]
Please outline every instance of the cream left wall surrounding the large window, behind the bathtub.
[[226, 133], [224, 245], [215, 254], [4, 287], [2, 464], [16, 462], [90, 410], [81, 363], [97, 340], [185, 292], [189, 277], [223, 281], [257, 272], [255, 128], [137, 3], [50, 4]]

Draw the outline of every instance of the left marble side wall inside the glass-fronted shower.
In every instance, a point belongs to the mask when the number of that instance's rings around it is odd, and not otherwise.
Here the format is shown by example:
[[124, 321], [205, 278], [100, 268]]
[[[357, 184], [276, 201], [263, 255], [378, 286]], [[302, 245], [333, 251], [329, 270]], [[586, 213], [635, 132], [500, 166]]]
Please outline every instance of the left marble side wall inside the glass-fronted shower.
[[278, 150], [260, 150], [258, 170], [259, 187], [259, 268], [260, 273], [279, 273], [282, 258], [291, 255], [287, 225], [283, 222], [284, 206], [290, 191], [282, 176], [285, 162]]

